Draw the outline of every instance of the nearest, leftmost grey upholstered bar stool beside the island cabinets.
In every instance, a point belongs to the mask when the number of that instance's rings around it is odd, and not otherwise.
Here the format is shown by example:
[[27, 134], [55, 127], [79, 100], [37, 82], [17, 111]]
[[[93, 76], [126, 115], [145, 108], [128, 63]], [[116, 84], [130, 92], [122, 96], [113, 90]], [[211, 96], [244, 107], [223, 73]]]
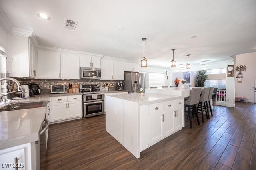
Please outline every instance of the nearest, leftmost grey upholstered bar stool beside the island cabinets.
[[[192, 128], [191, 107], [193, 108], [193, 111], [196, 112], [197, 124], [200, 125], [199, 117], [198, 117], [198, 112], [197, 112], [197, 109], [196, 109], [196, 105], [198, 104], [199, 99], [200, 99], [200, 94], [201, 94], [201, 89], [199, 89], [199, 88], [192, 88], [192, 90], [190, 92], [190, 96], [185, 101], [185, 112], [188, 113], [190, 128]], [[188, 111], [186, 111], [186, 107], [188, 107]]]

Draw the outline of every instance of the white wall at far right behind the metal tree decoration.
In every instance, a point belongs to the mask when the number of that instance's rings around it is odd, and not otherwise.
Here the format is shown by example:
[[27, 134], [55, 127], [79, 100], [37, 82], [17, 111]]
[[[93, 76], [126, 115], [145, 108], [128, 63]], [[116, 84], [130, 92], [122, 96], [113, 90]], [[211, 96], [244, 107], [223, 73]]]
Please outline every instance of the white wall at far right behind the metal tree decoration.
[[[236, 65], [246, 65], [246, 72], [242, 72], [242, 83], [235, 80], [237, 97], [247, 97], [248, 102], [254, 102], [254, 79], [256, 77], [256, 52], [236, 55]], [[235, 76], [239, 72], [236, 72]]]

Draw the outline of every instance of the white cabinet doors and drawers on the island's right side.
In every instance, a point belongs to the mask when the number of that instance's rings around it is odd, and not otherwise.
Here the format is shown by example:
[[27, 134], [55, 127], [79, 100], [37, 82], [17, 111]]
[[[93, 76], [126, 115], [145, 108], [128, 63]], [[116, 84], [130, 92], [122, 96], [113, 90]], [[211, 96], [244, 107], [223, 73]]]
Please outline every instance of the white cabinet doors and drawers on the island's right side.
[[[172, 101], [172, 105], [182, 103], [182, 100]], [[162, 107], [162, 103], [148, 105], [149, 146], [184, 127], [184, 105], [176, 105], [168, 110], [162, 109]]]

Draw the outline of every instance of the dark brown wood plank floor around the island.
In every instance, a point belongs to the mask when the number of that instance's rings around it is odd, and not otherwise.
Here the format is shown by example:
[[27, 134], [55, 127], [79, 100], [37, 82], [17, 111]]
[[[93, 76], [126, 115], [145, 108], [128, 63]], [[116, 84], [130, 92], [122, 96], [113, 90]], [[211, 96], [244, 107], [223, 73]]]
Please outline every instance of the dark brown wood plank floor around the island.
[[[218, 106], [193, 129], [179, 132], [136, 159], [105, 130], [105, 116], [50, 125], [42, 169], [222, 169], [256, 170], [256, 104]], [[201, 121], [201, 119], [200, 119]]]

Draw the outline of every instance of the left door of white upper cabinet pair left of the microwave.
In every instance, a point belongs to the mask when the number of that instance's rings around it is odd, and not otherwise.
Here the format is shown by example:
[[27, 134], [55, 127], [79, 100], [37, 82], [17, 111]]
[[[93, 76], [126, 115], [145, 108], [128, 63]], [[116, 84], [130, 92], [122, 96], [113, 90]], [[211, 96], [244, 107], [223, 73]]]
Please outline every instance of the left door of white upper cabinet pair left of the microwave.
[[38, 51], [38, 78], [61, 79], [60, 53]]

